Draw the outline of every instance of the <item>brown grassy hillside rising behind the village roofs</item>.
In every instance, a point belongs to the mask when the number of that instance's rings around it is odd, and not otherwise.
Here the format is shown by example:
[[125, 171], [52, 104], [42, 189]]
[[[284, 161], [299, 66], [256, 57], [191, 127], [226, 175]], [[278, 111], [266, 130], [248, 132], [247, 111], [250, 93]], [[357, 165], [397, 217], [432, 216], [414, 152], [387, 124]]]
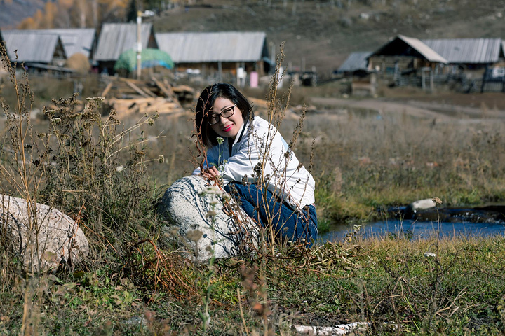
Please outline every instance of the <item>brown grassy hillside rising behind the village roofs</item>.
[[195, 6], [166, 11], [154, 19], [154, 27], [156, 31], [266, 31], [268, 41], [276, 46], [285, 41], [286, 65], [302, 66], [304, 58], [305, 69], [316, 66], [320, 73], [336, 69], [350, 52], [375, 50], [396, 34], [505, 37], [504, 0], [271, 3], [197, 1]]

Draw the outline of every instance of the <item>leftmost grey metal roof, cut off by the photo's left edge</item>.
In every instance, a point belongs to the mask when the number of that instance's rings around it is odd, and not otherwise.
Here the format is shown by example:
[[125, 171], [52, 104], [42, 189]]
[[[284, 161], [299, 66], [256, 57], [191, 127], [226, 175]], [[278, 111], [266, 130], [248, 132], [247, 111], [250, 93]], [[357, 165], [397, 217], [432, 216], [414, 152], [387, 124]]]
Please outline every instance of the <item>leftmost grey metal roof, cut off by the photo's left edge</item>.
[[15, 61], [15, 50], [18, 50], [18, 62], [50, 63], [53, 55], [62, 43], [60, 36], [54, 33], [45, 33], [29, 30], [4, 30], [2, 31], [8, 57]]

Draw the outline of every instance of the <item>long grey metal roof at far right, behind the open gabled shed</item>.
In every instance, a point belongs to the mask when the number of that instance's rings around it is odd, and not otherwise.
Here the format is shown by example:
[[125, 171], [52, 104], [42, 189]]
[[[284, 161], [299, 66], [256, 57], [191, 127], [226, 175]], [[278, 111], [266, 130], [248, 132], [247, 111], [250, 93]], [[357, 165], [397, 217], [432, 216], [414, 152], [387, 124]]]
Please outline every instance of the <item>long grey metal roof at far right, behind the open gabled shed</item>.
[[501, 38], [448, 38], [423, 42], [449, 63], [494, 63], [503, 48]]

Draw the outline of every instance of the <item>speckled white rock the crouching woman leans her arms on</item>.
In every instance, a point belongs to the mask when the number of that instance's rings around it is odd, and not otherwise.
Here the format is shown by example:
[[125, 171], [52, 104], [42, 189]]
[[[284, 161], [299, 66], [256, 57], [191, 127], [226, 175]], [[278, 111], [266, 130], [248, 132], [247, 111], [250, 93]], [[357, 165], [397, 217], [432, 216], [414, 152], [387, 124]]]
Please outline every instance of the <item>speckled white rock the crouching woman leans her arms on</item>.
[[225, 207], [223, 198], [229, 195], [196, 175], [175, 181], [163, 195], [159, 214], [174, 225], [164, 231], [188, 258], [228, 258], [257, 246], [257, 225], [236, 204]]

